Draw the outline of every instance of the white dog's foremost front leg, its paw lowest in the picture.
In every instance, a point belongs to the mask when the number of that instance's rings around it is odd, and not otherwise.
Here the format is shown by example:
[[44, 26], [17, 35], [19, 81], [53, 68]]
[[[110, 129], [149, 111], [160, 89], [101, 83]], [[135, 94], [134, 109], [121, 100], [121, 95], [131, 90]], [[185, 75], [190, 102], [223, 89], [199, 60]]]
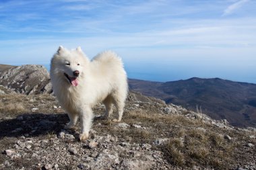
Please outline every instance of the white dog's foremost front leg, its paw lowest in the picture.
[[80, 123], [81, 123], [81, 134], [79, 134], [79, 139], [84, 142], [89, 138], [89, 131], [92, 126], [92, 108], [89, 106], [84, 106], [84, 108], [79, 113]]

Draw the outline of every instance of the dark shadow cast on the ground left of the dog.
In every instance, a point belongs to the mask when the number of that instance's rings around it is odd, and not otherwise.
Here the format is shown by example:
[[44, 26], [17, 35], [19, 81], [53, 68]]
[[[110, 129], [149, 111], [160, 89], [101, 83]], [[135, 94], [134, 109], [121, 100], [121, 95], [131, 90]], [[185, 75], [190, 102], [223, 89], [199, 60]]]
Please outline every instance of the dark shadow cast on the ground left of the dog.
[[17, 118], [0, 120], [0, 139], [57, 134], [67, 122], [67, 114], [21, 114]]

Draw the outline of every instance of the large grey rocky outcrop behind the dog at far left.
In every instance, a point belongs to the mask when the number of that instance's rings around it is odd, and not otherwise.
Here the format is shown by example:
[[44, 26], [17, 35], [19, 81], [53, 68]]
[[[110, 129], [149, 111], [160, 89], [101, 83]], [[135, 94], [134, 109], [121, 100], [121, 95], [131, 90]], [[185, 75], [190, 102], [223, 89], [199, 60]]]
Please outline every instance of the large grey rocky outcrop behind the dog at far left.
[[41, 65], [0, 65], [0, 85], [27, 95], [53, 92], [49, 72]]

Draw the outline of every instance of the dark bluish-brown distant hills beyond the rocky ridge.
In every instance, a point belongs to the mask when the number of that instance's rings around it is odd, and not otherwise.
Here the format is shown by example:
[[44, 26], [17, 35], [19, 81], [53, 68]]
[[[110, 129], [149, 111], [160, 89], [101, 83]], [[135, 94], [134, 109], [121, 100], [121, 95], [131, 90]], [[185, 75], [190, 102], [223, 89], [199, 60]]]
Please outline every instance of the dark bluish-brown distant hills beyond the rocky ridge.
[[129, 88], [158, 97], [233, 126], [256, 126], [256, 85], [223, 79], [191, 78], [166, 83], [129, 79]]

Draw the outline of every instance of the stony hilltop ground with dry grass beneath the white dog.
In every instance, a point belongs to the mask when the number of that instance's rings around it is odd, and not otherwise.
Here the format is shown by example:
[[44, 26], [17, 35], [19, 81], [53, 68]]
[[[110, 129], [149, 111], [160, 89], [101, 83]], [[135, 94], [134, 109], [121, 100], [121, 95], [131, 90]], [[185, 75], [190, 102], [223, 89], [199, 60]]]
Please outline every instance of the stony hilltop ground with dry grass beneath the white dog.
[[0, 169], [256, 169], [253, 128], [130, 93], [122, 122], [95, 118], [79, 142], [53, 95], [0, 90]]

